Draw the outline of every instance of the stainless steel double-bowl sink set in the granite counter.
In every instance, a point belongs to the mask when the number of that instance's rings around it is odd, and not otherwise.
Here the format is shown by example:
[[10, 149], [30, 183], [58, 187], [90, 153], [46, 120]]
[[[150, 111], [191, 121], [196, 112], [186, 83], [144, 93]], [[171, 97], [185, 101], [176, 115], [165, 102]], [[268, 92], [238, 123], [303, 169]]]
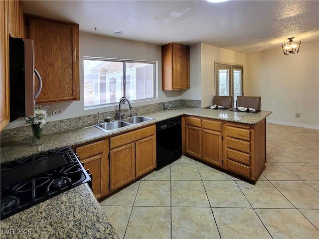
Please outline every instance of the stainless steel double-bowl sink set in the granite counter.
[[120, 120], [115, 120], [115, 121], [111, 121], [111, 122], [100, 123], [99, 125], [95, 124], [94, 126], [105, 131], [105, 132], [109, 132], [112, 130], [116, 130], [116, 129], [123, 128], [126, 126], [137, 124], [137, 123], [142, 123], [142, 122], [149, 121], [149, 120], [152, 120], [152, 118], [145, 117], [145, 116], [132, 116], [132, 117], [128, 117], [126, 119], [120, 119]]

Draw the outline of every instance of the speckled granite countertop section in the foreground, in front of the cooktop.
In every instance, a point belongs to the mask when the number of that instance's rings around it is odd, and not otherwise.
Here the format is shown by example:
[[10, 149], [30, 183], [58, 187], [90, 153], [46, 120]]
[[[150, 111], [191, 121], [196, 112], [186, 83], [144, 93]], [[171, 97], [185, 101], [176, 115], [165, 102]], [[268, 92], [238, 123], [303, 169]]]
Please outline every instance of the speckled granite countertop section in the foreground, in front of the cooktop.
[[86, 183], [0, 223], [1, 239], [119, 239]]

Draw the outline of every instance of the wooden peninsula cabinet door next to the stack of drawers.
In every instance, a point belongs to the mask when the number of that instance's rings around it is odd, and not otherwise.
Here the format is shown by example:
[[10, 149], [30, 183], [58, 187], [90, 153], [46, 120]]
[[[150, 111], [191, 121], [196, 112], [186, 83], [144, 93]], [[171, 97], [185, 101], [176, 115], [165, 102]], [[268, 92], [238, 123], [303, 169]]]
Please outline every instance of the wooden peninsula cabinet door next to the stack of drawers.
[[216, 166], [222, 166], [222, 138], [220, 132], [202, 130], [203, 151], [202, 159]]

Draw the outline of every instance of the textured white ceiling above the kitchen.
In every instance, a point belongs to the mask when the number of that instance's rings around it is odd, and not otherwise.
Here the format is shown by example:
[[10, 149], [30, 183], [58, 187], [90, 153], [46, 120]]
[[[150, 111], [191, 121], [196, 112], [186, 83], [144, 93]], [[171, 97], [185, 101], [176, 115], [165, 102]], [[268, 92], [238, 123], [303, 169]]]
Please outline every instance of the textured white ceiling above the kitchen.
[[288, 37], [319, 40], [318, 0], [22, 2], [25, 13], [79, 23], [81, 32], [115, 37], [113, 31], [122, 31], [118, 38], [157, 45], [202, 42], [251, 53], [281, 47]]

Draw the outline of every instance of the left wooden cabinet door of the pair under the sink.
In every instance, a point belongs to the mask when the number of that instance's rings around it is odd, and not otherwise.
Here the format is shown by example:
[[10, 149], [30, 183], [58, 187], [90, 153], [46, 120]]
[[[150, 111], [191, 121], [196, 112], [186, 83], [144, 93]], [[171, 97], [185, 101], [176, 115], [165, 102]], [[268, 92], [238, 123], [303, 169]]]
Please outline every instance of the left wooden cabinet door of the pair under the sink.
[[111, 191], [135, 179], [135, 143], [110, 151]]

